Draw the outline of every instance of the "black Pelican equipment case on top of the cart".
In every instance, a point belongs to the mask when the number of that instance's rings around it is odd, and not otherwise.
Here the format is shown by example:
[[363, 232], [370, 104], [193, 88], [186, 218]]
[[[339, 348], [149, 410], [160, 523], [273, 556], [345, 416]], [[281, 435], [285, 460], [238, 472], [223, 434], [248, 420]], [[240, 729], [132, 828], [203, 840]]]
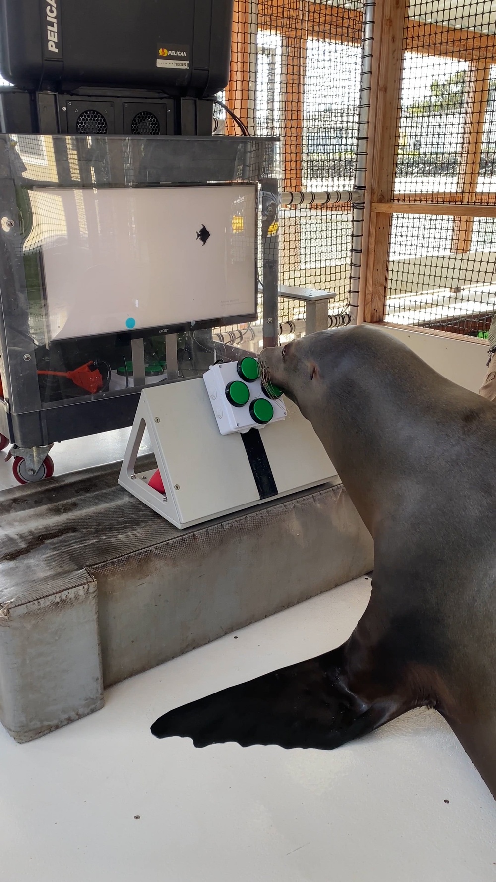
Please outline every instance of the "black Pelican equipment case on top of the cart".
[[229, 80], [233, 0], [0, 0], [0, 71], [14, 86], [214, 95]]

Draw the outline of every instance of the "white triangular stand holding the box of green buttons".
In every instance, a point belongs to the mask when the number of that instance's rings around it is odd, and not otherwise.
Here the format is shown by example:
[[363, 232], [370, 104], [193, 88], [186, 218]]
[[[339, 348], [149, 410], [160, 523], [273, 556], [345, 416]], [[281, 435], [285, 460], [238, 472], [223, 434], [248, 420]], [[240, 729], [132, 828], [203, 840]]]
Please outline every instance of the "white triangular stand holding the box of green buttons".
[[[312, 425], [297, 407], [260, 432], [277, 496], [338, 481]], [[139, 445], [147, 429], [164, 492], [137, 474]], [[119, 483], [176, 527], [259, 505], [252, 464], [238, 432], [222, 435], [203, 379], [143, 389]], [[273, 497], [274, 498], [274, 497]]]

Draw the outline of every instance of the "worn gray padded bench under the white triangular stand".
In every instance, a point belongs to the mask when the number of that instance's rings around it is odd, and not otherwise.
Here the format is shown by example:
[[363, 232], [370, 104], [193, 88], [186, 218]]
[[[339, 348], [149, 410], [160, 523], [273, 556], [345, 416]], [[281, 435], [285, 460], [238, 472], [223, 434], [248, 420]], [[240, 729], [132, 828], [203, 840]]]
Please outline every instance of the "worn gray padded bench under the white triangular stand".
[[372, 569], [342, 485], [181, 531], [118, 487], [118, 471], [0, 495], [0, 721], [16, 741], [98, 710], [106, 686]]

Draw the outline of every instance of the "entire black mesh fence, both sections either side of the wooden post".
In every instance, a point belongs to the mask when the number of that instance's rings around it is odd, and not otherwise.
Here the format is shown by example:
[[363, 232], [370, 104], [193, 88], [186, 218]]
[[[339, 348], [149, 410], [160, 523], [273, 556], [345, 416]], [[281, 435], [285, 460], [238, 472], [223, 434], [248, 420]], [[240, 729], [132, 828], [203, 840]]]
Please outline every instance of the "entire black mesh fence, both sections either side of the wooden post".
[[[229, 86], [218, 96], [225, 107], [214, 108], [215, 133], [278, 138], [282, 191], [352, 190], [362, 0], [234, 5]], [[495, 23], [490, 0], [410, 0], [393, 199], [415, 213], [391, 217], [389, 322], [477, 334], [496, 308]], [[281, 284], [335, 292], [330, 312], [345, 310], [351, 204], [282, 206], [279, 234]], [[282, 323], [304, 318], [304, 301], [282, 298]]]

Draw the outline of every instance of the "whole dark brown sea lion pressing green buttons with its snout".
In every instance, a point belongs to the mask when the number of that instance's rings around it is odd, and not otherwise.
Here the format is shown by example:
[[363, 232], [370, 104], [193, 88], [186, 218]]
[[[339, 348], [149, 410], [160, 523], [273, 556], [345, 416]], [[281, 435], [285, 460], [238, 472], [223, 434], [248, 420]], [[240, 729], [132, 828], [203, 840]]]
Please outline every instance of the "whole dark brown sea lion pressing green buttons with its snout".
[[260, 361], [372, 534], [370, 602], [341, 647], [173, 710], [153, 734], [334, 748], [430, 706], [496, 797], [496, 406], [364, 325]]

